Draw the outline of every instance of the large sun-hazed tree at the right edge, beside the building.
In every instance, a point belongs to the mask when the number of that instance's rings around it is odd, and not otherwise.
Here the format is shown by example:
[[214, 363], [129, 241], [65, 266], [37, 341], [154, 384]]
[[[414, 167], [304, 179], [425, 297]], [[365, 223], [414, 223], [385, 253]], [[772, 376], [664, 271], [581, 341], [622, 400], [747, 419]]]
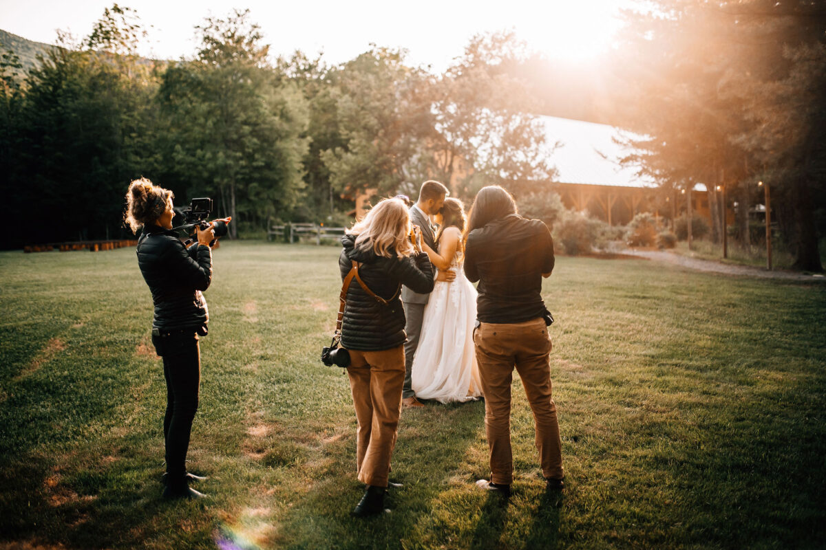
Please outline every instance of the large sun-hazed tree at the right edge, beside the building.
[[[656, 0], [625, 12], [613, 54], [624, 162], [667, 190], [705, 183], [719, 240], [737, 204], [771, 205], [795, 267], [821, 271], [826, 236], [826, 2]], [[642, 135], [643, 137], [640, 137]]]

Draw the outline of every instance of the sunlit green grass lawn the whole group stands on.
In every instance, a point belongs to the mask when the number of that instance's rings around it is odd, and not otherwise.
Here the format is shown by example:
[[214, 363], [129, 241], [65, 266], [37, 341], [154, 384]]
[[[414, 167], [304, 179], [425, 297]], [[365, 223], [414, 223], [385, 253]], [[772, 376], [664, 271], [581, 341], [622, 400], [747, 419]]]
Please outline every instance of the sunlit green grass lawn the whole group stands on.
[[[215, 252], [189, 468], [161, 500], [165, 386], [131, 249], [0, 253], [0, 541], [68, 548], [823, 548], [826, 284], [558, 259], [544, 283], [563, 435], [544, 495], [515, 380], [510, 503], [482, 402], [404, 411], [392, 513], [355, 520], [336, 247]], [[2, 546], [2, 543], [0, 543]]]

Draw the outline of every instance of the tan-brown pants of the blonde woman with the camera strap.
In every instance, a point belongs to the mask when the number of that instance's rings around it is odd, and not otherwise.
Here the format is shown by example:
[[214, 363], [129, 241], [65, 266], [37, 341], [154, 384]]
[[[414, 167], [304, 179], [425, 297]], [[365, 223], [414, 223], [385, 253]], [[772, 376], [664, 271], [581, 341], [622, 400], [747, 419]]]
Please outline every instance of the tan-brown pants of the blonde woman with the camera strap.
[[405, 348], [349, 350], [349, 353], [347, 374], [358, 421], [358, 480], [374, 487], [387, 487], [390, 459], [396, 446], [396, 428], [401, 416]]

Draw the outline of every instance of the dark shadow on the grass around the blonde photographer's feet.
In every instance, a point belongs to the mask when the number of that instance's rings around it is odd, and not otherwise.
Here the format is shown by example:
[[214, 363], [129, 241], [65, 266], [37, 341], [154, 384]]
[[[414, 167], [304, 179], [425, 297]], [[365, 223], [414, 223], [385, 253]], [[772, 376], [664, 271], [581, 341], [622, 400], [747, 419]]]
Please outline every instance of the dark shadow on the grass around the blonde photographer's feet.
[[363, 491], [354, 472], [355, 440], [349, 437], [335, 465], [283, 517], [279, 542], [285, 548], [404, 548], [445, 488], [462, 487], [466, 480], [458, 478], [476, 474], [468, 470], [466, 454], [479, 441], [483, 415], [482, 402], [403, 411], [391, 473], [403, 487], [391, 488], [391, 513], [371, 519], [349, 516]]

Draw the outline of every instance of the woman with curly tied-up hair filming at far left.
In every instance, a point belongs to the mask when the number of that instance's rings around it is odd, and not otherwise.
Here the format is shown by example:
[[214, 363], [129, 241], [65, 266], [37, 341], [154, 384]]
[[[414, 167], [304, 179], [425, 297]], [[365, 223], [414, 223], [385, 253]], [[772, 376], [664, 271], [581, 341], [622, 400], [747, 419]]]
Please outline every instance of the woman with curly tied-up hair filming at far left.
[[207, 336], [209, 313], [202, 291], [212, 279], [211, 243], [216, 220], [206, 229], [196, 227], [197, 242], [184, 247], [172, 231], [172, 191], [140, 178], [126, 193], [124, 221], [137, 233], [138, 266], [154, 303], [152, 343], [164, 358], [167, 406], [164, 416], [166, 498], [199, 498], [189, 482], [204, 479], [188, 473], [185, 463], [192, 420], [198, 407], [201, 351], [198, 337]]

